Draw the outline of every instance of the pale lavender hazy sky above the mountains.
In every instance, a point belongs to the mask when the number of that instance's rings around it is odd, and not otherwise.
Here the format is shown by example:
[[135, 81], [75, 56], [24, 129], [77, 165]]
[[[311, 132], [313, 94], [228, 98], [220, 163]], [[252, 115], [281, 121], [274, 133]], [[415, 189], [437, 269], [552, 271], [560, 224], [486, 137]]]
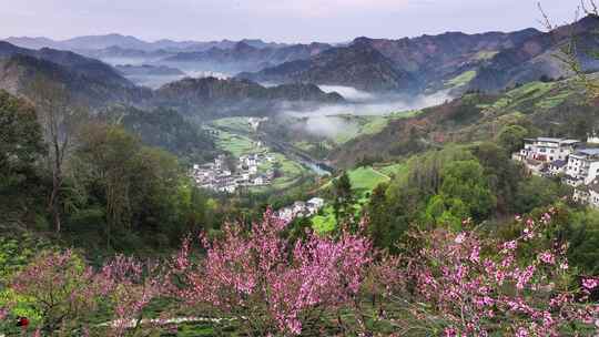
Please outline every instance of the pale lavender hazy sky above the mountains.
[[[146, 41], [345, 42], [541, 29], [538, 0], [0, 0], [0, 38], [121, 33]], [[578, 0], [541, 0], [556, 23]]]

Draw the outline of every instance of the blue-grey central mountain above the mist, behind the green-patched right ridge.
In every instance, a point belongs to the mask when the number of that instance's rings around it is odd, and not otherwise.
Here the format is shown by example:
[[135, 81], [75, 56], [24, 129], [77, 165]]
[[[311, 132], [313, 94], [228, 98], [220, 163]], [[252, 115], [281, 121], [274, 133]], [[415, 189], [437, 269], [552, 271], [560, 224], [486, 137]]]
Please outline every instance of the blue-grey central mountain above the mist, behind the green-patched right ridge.
[[440, 89], [436, 84], [538, 34], [541, 33], [527, 29], [512, 33], [448, 32], [400, 40], [357, 38], [347, 47], [333, 48], [307, 60], [240, 76], [275, 83], [349, 85], [366, 91]]

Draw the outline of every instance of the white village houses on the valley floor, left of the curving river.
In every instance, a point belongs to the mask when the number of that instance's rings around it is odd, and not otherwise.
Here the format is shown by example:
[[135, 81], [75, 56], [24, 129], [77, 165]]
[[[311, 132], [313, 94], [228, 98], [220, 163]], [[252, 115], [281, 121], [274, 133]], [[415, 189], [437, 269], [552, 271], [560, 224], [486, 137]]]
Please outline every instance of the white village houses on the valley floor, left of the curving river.
[[234, 193], [244, 186], [270, 185], [274, 171], [258, 171], [264, 162], [274, 163], [276, 159], [270, 154], [248, 154], [238, 159], [236, 167], [229, 167], [226, 156], [220, 155], [214, 162], [204, 165], [193, 165], [191, 176], [202, 188], [222, 193]]

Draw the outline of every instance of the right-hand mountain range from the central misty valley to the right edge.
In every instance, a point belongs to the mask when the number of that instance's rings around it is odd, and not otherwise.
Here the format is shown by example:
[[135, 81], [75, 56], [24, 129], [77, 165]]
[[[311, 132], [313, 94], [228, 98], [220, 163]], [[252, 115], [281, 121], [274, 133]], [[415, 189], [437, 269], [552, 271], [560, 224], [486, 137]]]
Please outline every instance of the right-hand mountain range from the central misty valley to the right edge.
[[583, 70], [599, 70], [599, 62], [588, 52], [599, 47], [598, 29], [599, 19], [589, 16], [550, 32], [526, 29], [511, 33], [448, 32], [400, 40], [357, 38], [347, 47], [238, 76], [273, 83], [349, 85], [375, 92], [497, 92], [541, 76], [571, 75], [557, 55], [572, 38]]

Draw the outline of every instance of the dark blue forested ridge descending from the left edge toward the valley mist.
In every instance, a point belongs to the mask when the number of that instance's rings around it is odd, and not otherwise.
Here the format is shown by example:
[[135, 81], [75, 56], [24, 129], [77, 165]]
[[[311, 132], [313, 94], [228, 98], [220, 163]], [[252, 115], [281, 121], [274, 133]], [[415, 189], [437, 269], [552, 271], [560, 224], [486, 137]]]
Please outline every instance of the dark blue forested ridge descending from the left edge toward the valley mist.
[[131, 105], [143, 109], [177, 108], [197, 118], [238, 114], [268, 114], [281, 104], [343, 102], [338, 94], [323, 92], [313, 84], [265, 88], [250, 81], [215, 78], [183, 79], [159, 90], [136, 86], [123, 75], [179, 75], [175, 69], [110, 65], [70, 51], [30, 50], [0, 42], [0, 89], [31, 96], [31, 84], [43, 79], [65, 88], [73, 103], [91, 109]]

